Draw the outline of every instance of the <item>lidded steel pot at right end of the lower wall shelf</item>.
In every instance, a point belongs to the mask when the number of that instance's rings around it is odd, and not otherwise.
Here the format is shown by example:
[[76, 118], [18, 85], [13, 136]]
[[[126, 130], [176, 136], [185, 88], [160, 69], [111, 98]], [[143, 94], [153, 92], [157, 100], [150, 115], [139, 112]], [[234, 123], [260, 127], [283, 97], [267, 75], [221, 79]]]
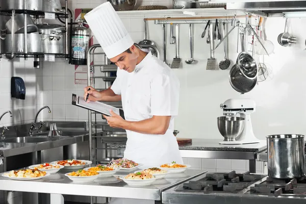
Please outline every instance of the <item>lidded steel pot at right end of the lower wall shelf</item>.
[[62, 54], [64, 52], [65, 27], [58, 24], [42, 23], [37, 25], [42, 34], [42, 52], [44, 54]]

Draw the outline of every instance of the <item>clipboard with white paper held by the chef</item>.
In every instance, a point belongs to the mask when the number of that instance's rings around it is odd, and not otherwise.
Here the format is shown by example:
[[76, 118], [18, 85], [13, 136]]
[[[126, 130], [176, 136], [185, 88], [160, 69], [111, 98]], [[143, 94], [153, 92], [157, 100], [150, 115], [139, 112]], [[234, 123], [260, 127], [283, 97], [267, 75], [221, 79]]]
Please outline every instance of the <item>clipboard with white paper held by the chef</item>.
[[104, 104], [99, 101], [89, 101], [88, 103], [85, 101], [83, 97], [78, 96], [77, 94], [72, 94], [72, 105], [78, 106], [81, 108], [85, 108], [90, 111], [102, 113], [106, 116], [112, 116], [110, 113], [110, 110], [112, 110], [117, 115], [120, 115], [123, 119], [124, 118], [124, 112], [122, 109], [110, 106], [108, 104]]

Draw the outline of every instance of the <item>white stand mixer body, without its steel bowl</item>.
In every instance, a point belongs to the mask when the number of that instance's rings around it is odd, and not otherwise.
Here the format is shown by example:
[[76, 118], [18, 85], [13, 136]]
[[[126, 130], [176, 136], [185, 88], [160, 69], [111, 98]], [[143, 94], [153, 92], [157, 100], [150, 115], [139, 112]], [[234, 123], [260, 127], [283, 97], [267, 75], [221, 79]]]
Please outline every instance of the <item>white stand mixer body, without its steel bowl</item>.
[[245, 122], [243, 132], [236, 141], [222, 141], [219, 144], [250, 144], [260, 142], [254, 136], [250, 116], [251, 113], [255, 112], [255, 101], [247, 98], [227, 99], [223, 104], [220, 104], [220, 108], [223, 109], [224, 116], [236, 116], [240, 114], [240, 117], [244, 118]]

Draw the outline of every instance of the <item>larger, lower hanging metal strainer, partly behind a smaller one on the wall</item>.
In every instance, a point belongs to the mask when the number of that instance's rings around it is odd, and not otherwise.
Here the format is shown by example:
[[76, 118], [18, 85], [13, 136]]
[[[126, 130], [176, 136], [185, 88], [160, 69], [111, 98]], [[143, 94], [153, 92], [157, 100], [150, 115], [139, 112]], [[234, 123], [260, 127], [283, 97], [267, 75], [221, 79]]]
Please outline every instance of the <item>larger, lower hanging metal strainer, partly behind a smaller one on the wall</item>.
[[230, 84], [231, 86], [240, 93], [247, 93], [254, 88], [257, 82], [257, 78], [251, 80], [246, 78], [236, 65], [230, 70]]

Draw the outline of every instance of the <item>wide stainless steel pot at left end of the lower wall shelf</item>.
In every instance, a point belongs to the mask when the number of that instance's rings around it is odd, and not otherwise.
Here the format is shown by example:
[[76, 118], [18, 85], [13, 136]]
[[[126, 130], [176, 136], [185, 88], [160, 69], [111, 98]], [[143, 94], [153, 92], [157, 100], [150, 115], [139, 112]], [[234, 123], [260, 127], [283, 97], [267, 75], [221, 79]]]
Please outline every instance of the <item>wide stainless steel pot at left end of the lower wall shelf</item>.
[[[12, 34], [7, 34], [5, 38], [1, 38], [1, 50], [4, 53], [12, 53]], [[27, 34], [28, 53], [42, 53], [41, 35], [38, 33]], [[14, 35], [14, 53], [24, 53], [24, 34]]]

